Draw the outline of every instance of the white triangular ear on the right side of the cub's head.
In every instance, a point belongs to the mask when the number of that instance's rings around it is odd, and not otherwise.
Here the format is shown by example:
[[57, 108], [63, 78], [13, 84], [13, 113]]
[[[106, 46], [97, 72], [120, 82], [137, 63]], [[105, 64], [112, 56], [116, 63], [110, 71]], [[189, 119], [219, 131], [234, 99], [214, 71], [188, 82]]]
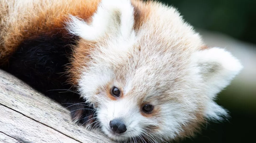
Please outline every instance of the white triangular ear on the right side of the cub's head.
[[217, 47], [197, 51], [192, 60], [199, 67], [206, 88], [213, 97], [229, 85], [243, 68], [231, 53]]

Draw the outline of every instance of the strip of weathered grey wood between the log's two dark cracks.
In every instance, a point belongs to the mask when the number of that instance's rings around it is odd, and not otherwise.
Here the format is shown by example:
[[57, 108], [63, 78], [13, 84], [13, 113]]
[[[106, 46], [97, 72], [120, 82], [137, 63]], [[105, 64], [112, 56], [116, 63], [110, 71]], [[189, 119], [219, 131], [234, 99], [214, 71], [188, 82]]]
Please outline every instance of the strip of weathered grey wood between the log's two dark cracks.
[[38, 123], [12, 109], [0, 105], [1, 132], [25, 142], [79, 143], [54, 129]]

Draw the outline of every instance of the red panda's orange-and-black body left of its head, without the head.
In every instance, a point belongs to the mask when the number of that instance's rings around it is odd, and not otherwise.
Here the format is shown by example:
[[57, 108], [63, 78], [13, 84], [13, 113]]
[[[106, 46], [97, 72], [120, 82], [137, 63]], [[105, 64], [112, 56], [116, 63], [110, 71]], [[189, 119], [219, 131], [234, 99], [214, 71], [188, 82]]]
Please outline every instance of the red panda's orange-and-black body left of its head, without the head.
[[[72, 118], [88, 119], [87, 105], [73, 93], [74, 84], [66, 74], [72, 56], [71, 45], [78, 40], [65, 29], [68, 14], [89, 19], [99, 1], [1, 1], [0, 65], [33, 88], [69, 107]], [[71, 92], [67, 92], [67, 90]], [[60, 92], [67, 92], [60, 94]], [[84, 107], [86, 106], [86, 107]], [[83, 116], [85, 114], [85, 116]]]

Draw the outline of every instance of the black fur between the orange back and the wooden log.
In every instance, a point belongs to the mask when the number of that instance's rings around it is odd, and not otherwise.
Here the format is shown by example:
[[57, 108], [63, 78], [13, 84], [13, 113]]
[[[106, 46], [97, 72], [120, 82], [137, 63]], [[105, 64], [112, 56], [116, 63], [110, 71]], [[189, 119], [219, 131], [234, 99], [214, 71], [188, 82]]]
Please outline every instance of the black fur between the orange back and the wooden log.
[[25, 40], [4, 69], [68, 107], [71, 117], [79, 118], [84, 123], [89, 119], [88, 116], [94, 114], [93, 108], [83, 103], [80, 96], [74, 93], [76, 89], [67, 83], [68, 76], [65, 73], [69, 57], [72, 56], [71, 45], [75, 44], [74, 40], [74, 37], [65, 38], [62, 34]]

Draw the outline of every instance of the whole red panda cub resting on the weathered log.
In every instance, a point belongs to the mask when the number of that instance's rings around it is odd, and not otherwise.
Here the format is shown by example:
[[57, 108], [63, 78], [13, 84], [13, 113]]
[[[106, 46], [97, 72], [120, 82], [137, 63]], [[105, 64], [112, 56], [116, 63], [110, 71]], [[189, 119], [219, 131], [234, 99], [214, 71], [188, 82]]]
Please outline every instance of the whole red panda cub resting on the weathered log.
[[[140, 0], [2, 0], [1, 68], [116, 141], [191, 137], [240, 72], [179, 12]], [[66, 91], [66, 92], [63, 92]]]

